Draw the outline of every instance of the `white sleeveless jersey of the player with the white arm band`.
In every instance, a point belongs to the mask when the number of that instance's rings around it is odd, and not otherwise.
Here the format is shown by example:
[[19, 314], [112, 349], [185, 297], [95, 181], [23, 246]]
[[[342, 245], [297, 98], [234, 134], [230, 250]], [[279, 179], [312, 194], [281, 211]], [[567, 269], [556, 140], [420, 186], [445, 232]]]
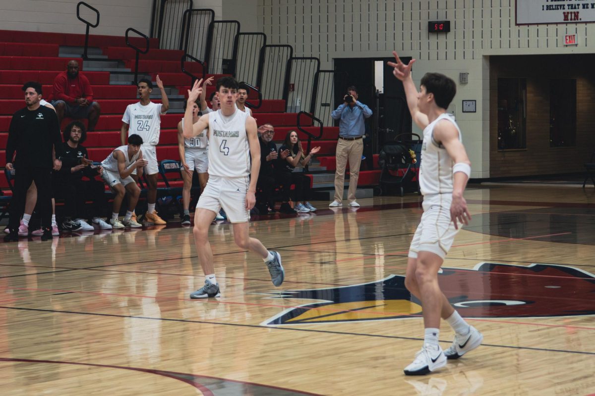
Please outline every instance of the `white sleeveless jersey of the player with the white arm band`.
[[419, 188], [422, 195], [452, 193], [452, 166], [453, 160], [443, 145], [434, 140], [434, 127], [443, 119], [452, 122], [459, 132], [462, 140], [461, 129], [456, 125], [455, 118], [447, 113], [441, 114], [424, 129], [424, 143], [421, 146], [421, 166], [419, 167]]

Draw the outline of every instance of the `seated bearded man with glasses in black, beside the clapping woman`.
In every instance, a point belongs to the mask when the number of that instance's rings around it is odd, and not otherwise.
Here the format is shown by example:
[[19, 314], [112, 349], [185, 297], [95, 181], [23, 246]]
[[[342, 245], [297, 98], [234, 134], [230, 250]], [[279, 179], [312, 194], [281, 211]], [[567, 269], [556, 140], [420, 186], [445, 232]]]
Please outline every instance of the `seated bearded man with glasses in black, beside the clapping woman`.
[[[274, 163], [277, 162], [279, 154], [277, 153], [277, 145], [273, 143], [274, 135], [275, 128], [270, 123], [265, 123], [258, 128], [258, 141], [261, 145], [261, 167], [258, 173], [258, 183], [256, 183], [256, 208], [259, 214], [274, 213], [275, 211], [275, 201], [273, 199], [275, 191]], [[281, 153], [281, 155], [288, 154], [289, 151]]]

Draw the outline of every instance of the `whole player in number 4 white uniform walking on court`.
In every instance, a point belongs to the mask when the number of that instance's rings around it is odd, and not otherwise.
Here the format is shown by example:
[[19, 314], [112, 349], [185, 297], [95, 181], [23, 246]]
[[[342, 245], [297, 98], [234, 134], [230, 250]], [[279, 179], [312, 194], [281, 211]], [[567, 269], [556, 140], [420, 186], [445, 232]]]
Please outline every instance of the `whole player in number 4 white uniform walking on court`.
[[258, 239], [249, 235], [250, 209], [256, 203], [256, 180], [260, 170], [256, 121], [236, 107], [239, 84], [235, 78], [222, 77], [216, 86], [221, 109], [192, 123], [192, 104], [202, 94], [201, 83], [202, 80], [195, 81], [192, 90], [188, 91], [184, 113], [184, 138], [191, 139], [206, 132], [209, 140], [209, 180], [196, 204], [193, 229], [196, 254], [205, 273], [205, 285], [191, 293], [190, 298], [221, 295], [208, 239], [209, 226], [221, 207], [232, 223], [236, 245], [261, 256], [273, 284], [280, 286], [285, 277], [281, 256], [278, 252], [268, 251]]

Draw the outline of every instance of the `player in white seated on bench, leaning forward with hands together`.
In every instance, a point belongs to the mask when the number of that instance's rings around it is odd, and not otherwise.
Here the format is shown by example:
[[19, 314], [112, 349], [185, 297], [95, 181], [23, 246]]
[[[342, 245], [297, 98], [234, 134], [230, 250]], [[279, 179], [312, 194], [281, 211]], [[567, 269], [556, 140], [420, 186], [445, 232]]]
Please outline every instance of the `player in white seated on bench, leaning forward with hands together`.
[[[127, 145], [115, 148], [101, 163], [101, 167], [104, 169], [101, 178], [104, 179], [105, 184], [115, 194], [112, 205], [112, 218], [109, 220], [109, 224], [112, 225], [113, 229], [142, 227], [132, 218], [136, 203], [139, 201], [140, 188], [130, 176], [134, 170], [136, 170], [139, 177], [142, 176], [143, 167], [147, 165], [147, 161], [143, 159], [143, 152], [140, 149], [142, 144], [143, 139], [139, 135], [130, 135]], [[126, 192], [130, 195], [129, 207], [124, 220], [120, 221], [118, 220], [118, 214]]]

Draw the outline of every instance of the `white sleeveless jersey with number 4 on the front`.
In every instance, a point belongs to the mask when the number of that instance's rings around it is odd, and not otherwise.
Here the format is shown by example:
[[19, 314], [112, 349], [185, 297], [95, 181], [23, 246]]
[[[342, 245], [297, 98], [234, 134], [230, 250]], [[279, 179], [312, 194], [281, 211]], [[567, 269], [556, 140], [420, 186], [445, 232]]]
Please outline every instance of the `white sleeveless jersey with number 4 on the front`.
[[236, 110], [224, 121], [221, 110], [209, 113], [209, 175], [239, 178], [250, 175], [248, 114]]

